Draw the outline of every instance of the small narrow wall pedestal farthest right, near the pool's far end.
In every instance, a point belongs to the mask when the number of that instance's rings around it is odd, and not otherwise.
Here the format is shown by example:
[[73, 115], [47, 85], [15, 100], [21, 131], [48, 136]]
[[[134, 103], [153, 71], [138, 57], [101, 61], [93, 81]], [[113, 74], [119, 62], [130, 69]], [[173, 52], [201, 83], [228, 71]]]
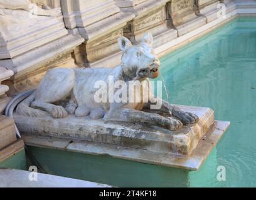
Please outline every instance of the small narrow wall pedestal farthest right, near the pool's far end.
[[200, 14], [206, 17], [207, 22], [214, 21], [218, 17], [218, 11], [220, 9], [220, 1], [216, 0], [199, 0], [198, 9]]

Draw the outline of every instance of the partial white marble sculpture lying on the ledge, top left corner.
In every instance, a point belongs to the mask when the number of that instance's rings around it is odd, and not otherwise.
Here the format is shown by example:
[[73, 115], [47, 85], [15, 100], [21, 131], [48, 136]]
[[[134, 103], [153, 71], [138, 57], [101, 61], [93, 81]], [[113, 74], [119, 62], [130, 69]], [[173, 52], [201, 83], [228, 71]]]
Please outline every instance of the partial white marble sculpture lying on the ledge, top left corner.
[[42, 8], [40, 8], [29, 0], [0, 0], [0, 14], [4, 15], [4, 12], [1, 11], [1, 9], [21, 9], [40, 16], [57, 16], [61, 13], [60, 9], [51, 9], [46, 5], [43, 5]]

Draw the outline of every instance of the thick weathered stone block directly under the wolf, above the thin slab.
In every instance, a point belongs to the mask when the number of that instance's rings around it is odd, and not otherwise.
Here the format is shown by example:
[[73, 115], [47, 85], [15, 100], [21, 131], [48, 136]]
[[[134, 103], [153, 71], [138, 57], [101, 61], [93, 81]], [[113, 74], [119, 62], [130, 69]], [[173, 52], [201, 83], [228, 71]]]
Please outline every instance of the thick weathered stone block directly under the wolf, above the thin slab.
[[21, 133], [187, 156], [210, 129], [214, 122], [214, 112], [210, 108], [178, 107], [197, 114], [200, 121], [193, 126], [184, 126], [178, 131], [169, 131], [150, 124], [106, 123], [102, 119], [76, 118], [73, 115], [64, 119], [53, 119], [50, 115], [45, 118], [30, 118], [14, 114], [14, 119]]

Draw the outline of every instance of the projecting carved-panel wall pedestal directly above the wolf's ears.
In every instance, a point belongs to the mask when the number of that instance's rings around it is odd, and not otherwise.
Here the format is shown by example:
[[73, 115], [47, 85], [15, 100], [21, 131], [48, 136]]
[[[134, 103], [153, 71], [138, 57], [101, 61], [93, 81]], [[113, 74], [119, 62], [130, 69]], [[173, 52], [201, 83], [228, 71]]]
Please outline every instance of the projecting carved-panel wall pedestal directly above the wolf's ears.
[[124, 27], [124, 36], [133, 43], [141, 41], [142, 35], [150, 31], [154, 36], [154, 47], [161, 46], [177, 37], [177, 31], [166, 24], [166, 2], [168, 1], [116, 1], [123, 12], [135, 15]]

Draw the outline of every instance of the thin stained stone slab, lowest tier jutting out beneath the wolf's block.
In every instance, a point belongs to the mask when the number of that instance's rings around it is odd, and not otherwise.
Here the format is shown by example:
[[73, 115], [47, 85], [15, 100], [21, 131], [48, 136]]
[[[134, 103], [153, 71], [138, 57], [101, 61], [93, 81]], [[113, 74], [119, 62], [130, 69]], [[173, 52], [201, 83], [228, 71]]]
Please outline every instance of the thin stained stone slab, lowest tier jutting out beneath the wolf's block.
[[113, 158], [127, 159], [140, 163], [197, 170], [229, 125], [229, 122], [215, 121], [208, 133], [201, 138], [192, 154], [186, 157], [177, 157], [173, 156], [173, 154], [156, 153], [144, 149], [123, 148], [107, 144], [89, 143], [87, 141], [73, 141], [71, 139], [50, 138], [29, 134], [23, 134], [23, 139], [28, 146], [72, 151], [83, 154], [108, 155]]

